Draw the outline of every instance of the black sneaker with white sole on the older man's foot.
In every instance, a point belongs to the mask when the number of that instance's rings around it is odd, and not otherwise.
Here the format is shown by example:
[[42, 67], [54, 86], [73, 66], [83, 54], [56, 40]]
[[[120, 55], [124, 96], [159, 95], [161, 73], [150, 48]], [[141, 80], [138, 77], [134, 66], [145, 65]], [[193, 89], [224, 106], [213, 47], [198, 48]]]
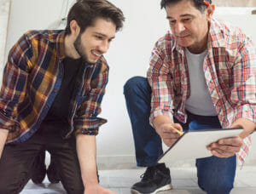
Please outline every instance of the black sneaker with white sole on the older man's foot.
[[141, 175], [142, 180], [131, 186], [132, 194], [155, 194], [158, 191], [172, 189], [169, 168], [164, 163], [154, 167], [148, 167]]

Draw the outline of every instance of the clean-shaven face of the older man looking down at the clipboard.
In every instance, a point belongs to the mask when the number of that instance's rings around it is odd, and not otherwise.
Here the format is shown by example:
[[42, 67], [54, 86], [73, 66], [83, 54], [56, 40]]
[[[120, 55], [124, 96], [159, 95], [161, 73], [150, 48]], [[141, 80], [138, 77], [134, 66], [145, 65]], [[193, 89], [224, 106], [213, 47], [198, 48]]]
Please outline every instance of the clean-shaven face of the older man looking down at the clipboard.
[[203, 52], [207, 48], [208, 21], [213, 11], [214, 5], [211, 4], [201, 13], [192, 1], [187, 0], [168, 4], [166, 18], [177, 45], [187, 47], [195, 54]]

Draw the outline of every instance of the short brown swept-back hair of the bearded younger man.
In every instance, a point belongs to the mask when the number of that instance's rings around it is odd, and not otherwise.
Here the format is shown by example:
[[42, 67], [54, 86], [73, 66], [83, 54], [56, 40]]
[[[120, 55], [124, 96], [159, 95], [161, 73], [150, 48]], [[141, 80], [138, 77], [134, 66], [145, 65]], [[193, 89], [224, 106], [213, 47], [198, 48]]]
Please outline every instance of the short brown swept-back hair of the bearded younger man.
[[123, 27], [123, 12], [107, 0], [78, 0], [67, 14], [66, 35], [71, 33], [70, 22], [76, 20], [83, 33], [88, 26], [93, 26], [96, 19], [110, 20], [115, 24], [116, 31]]

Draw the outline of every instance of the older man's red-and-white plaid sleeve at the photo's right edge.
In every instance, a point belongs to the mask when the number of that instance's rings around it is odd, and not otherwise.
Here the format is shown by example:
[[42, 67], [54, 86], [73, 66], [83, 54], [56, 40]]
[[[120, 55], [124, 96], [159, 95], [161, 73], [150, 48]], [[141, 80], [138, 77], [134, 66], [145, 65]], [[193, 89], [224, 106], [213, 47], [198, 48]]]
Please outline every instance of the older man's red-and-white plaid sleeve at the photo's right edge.
[[234, 88], [231, 100], [236, 105], [231, 123], [238, 118], [256, 122], [256, 50], [250, 39], [246, 39], [238, 49], [233, 66]]

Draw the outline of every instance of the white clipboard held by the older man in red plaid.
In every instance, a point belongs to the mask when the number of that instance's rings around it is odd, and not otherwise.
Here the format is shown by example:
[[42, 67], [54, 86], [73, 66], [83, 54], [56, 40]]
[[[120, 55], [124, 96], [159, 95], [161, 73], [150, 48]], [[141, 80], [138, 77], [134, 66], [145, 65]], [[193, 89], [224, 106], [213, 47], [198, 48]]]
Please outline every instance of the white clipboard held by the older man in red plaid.
[[213, 128], [185, 132], [158, 159], [158, 163], [171, 161], [211, 157], [207, 145], [220, 139], [236, 137], [243, 128]]

